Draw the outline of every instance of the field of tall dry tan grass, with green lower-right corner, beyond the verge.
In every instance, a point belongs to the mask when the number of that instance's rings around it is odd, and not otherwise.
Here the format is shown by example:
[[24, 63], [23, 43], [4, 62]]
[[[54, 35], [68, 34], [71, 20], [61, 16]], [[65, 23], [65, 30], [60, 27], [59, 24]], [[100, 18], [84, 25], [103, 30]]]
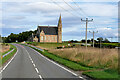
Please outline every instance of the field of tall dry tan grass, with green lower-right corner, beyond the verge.
[[[36, 47], [48, 50], [56, 56], [76, 62], [84, 67], [83, 74], [94, 78], [118, 77], [118, 49], [92, 48], [76, 45], [73, 48], [56, 49], [58, 46], [67, 46], [69, 43], [29, 43]], [[72, 45], [72, 44], [71, 44]], [[74, 66], [76, 67], [76, 66]], [[88, 69], [89, 67], [89, 69]], [[92, 68], [92, 69], [90, 69]], [[74, 68], [73, 68], [74, 69]], [[85, 70], [85, 71], [84, 71]], [[88, 70], [88, 71], [86, 71]], [[104, 74], [104, 76], [103, 76]]]

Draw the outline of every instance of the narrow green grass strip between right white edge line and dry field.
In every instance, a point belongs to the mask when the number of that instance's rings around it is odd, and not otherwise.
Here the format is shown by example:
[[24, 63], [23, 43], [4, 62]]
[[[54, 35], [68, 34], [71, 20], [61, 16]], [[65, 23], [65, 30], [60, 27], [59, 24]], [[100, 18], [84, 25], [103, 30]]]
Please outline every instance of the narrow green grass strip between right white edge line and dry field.
[[[27, 45], [25, 45], [27, 46]], [[29, 46], [31, 47], [31, 46]], [[86, 67], [86, 66], [82, 66], [76, 62], [70, 61], [68, 59], [62, 58], [60, 56], [54, 55], [52, 53], [49, 53], [47, 50], [44, 51], [40, 51], [34, 47], [31, 47], [33, 49], [35, 49], [36, 51], [40, 52], [41, 54], [43, 54], [44, 56], [48, 57], [49, 59], [52, 59], [62, 65], [67, 66], [70, 69], [73, 69], [75, 71], [81, 70], [81, 71], [86, 71], [86, 70], [92, 70], [92, 69], [96, 69], [96, 68], [92, 68], [92, 67]]]

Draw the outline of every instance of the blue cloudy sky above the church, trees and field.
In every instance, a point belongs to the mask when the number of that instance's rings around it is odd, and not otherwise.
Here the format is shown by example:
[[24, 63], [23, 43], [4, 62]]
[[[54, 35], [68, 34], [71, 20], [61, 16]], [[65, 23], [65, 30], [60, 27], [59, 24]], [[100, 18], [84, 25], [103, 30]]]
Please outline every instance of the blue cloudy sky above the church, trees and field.
[[[2, 0], [0, 2], [0, 34], [8, 36], [23, 31], [36, 30], [38, 25], [57, 26], [62, 16], [63, 41], [85, 39], [89, 20], [88, 39], [118, 36], [119, 0]], [[114, 38], [112, 41], [117, 41]]]

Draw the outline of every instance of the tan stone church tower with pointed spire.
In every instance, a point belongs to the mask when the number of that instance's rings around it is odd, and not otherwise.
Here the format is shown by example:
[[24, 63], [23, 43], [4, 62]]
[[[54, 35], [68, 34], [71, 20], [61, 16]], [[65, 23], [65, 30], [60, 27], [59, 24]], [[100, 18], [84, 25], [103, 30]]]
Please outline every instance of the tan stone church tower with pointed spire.
[[58, 37], [57, 37], [57, 42], [58, 43], [62, 43], [62, 20], [61, 20], [61, 14], [59, 17], [59, 21], [58, 21]]

